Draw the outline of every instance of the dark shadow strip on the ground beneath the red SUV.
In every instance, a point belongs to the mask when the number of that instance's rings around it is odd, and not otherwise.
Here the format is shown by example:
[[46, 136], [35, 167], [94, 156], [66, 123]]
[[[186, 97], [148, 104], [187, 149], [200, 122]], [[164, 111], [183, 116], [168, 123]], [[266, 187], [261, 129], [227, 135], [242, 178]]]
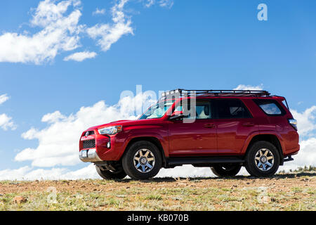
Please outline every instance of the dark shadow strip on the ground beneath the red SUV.
[[[231, 176], [231, 177], [178, 177], [178, 178], [173, 178], [173, 177], [157, 177], [157, 178], [152, 178], [152, 179], [147, 179], [147, 180], [140, 180], [139, 182], [142, 183], [162, 183], [162, 182], [178, 182], [178, 181], [206, 181], [206, 180], [254, 180], [254, 179], [289, 179], [289, 178], [296, 178], [296, 177], [301, 177], [301, 176], [316, 176], [316, 172], [298, 172], [295, 174], [275, 174], [274, 176], [270, 177], [255, 177], [255, 176]], [[135, 182], [136, 180], [134, 179], [122, 179], [122, 180], [117, 180], [117, 182], [121, 183], [130, 183], [130, 182]]]

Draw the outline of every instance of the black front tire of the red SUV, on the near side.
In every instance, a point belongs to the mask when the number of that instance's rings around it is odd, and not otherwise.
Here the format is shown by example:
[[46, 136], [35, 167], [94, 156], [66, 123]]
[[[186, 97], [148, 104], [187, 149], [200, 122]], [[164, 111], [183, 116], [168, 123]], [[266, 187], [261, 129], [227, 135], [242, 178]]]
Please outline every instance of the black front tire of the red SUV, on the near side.
[[[146, 155], [145, 153], [147, 153], [148, 150], [150, 153], [148, 153], [149, 155], [146, 156], [146, 160], [147, 164], [150, 164], [152, 168], [147, 166], [145, 163], [140, 165], [141, 158]], [[139, 158], [137, 157], [139, 160], [134, 160], [136, 155], [140, 155], [140, 151], [142, 152], [142, 156]], [[126, 174], [132, 179], [149, 179], [150, 177], [156, 176], [159, 170], [162, 168], [162, 154], [160, 153], [157, 146], [155, 146], [150, 141], [137, 141], [136, 143], [133, 143], [129, 149], [126, 149], [126, 153], [123, 156], [122, 165]], [[136, 166], [138, 166], [138, 168], [136, 168]], [[145, 172], [140, 172], [138, 170], [143, 170], [144, 168]]]

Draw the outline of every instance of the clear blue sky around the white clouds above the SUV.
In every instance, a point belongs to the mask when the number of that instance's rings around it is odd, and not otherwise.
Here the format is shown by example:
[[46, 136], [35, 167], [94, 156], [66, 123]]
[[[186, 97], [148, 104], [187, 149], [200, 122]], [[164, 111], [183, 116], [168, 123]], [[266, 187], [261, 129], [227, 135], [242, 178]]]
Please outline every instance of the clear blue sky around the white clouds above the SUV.
[[[1, 1], [0, 35], [32, 37], [42, 30], [31, 21], [40, 2]], [[234, 89], [244, 84], [287, 97], [290, 107], [302, 115], [316, 105], [316, 1], [165, 2], [166, 6], [156, 0], [147, 7], [149, 1], [127, 1], [119, 11], [124, 13], [123, 23], [131, 21], [133, 34], [122, 34], [107, 51], [98, 44], [100, 37], [81, 32], [79, 45], [70, 51], [59, 49], [40, 63], [12, 63], [1, 50], [0, 36], [0, 96], [10, 97], [0, 104], [0, 115], [11, 117], [16, 125], [14, 130], [0, 128], [0, 170], [30, 166], [32, 160], [17, 162], [15, 155], [39, 146], [37, 139], [21, 135], [32, 127], [48, 129], [49, 124], [41, 122], [44, 115], [59, 111], [69, 116], [99, 101], [114, 105], [121, 91], [136, 91], [137, 84], [143, 91]], [[82, 0], [65, 15], [79, 10], [78, 25], [84, 29], [112, 25], [111, 8], [119, 3]], [[268, 21], [257, 19], [261, 3], [268, 6]], [[93, 15], [96, 8], [105, 13]], [[64, 60], [84, 51], [97, 56]], [[314, 122], [312, 113], [308, 123]], [[64, 165], [70, 170], [85, 166]], [[37, 168], [41, 167], [32, 167]]]

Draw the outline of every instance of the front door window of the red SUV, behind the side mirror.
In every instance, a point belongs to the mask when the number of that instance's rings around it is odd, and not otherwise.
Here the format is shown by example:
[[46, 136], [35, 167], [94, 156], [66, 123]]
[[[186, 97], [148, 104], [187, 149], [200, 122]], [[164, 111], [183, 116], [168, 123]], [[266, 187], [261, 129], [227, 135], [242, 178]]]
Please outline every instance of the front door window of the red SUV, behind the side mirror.
[[[185, 112], [185, 110], [188, 110], [190, 113]], [[196, 105], [192, 107], [192, 110], [190, 110], [190, 104], [189, 107], [186, 107], [185, 105], [178, 105], [175, 111], [183, 111], [185, 115], [189, 115], [188, 118], [190, 119], [211, 119], [212, 117], [211, 102], [209, 101], [197, 101]]]

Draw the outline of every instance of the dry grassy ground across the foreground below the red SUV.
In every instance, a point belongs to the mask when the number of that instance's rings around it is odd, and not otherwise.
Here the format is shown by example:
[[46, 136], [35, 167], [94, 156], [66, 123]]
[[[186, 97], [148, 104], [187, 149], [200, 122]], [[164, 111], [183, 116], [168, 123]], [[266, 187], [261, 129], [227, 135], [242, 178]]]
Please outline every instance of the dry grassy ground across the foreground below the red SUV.
[[[27, 201], [16, 203], [16, 196]], [[0, 210], [316, 210], [316, 172], [267, 179], [2, 181]]]

